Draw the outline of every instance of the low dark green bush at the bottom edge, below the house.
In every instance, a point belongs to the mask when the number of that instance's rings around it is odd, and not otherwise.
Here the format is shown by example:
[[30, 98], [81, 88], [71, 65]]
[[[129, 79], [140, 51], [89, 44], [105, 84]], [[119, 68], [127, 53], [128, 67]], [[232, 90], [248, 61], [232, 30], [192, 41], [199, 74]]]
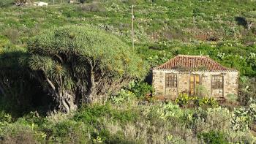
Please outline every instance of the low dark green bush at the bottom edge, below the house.
[[200, 140], [203, 140], [204, 143], [227, 143], [228, 141], [225, 139], [225, 136], [222, 132], [203, 132], [200, 134], [197, 134], [197, 138]]

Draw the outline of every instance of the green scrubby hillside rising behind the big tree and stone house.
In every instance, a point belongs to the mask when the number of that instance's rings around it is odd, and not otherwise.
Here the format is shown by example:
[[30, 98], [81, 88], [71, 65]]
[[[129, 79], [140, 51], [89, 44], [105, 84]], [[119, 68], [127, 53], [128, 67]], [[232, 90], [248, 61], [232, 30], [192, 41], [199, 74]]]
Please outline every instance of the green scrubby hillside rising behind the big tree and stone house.
[[[86, 23], [99, 26], [131, 44], [131, 4], [130, 1], [108, 1], [1, 8], [0, 48], [26, 47], [29, 37], [43, 29]], [[254, 1], [136, 1], [134, 4], [135, 47], [144, 58], [149, 58], [152, 66], [178, 53], [203, 54], [240, 70], [242, 75], [255, 75], [254, 68], [245, 64], [248, 62], [238, 60], [256, 52], [255, 34], [236, 20], [244, 12], [254, 10]], [[217, 39], [217, 42], [206, 39]], [[210, 45], [202, 45], [202, 42]], [[161, 50], [149, 50], [151, 45]], [[218, 56], [219, 53], [225, 53], [225, 57]], [[228, 54], [231, 58], [227, 58]], [[248, 65], [248, 69], [244, 69], [244, 65]]]

